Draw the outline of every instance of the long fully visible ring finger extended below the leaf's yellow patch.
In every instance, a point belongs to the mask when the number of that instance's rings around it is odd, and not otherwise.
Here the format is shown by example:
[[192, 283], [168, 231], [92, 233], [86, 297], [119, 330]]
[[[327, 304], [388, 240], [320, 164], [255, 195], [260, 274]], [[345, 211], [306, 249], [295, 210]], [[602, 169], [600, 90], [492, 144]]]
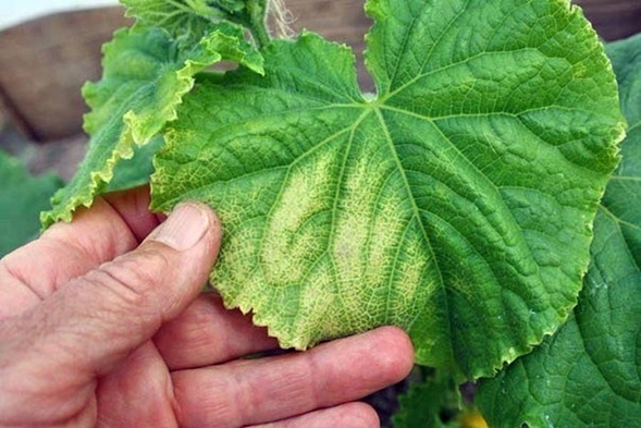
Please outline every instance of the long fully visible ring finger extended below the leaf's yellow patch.
[[407, 376], [407, 334], [383, 327], [308, 352], [172, 374], [181, 426], [245, 426], [358, 400]]

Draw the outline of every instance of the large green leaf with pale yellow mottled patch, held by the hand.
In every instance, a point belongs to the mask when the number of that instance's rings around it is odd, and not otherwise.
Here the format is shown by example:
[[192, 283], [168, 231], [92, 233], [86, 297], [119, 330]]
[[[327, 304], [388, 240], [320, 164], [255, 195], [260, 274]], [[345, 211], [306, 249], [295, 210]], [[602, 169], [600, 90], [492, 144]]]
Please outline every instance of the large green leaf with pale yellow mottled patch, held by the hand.
[[492, 375], [567, 319], [622, 136], [603, 47], [558, 0], [371, 0], [354, 54], [303, 34], [266, 77], [202, 76], [153, 206], [209, 203], [212, 283], [283, 346], [380, 325], [419, 364]]

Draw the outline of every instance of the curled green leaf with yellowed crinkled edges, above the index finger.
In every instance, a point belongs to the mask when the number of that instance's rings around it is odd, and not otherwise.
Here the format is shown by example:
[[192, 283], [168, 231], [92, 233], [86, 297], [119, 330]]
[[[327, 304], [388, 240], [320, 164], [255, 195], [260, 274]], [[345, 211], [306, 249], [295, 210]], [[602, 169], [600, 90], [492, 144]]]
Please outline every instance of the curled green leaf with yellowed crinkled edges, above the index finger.
[[[194, 74], [222, 59], [262, 72], [262, 59], [243, 41], [241, 27], [220, 24], [217, 28], [192, 46], [156, 27], [114, 34], [103, 48], [102, 80], [83, 89], [91, 107], [85, 117], [85, 130], [91, 135], [88, 154], [69, 185], [51, 199], [52, 210], [42, 213], [45, 227], [70, 221], [77, 207], [91, 205], [112, 180], [115, 166], [131, 159], [135, 146], [148, 144], [176, 118], [176, 106], [192, 89]], [[149, 163], [150, 155], [141, 162]], [[146, 181], [148, 173], [148, 168], [131, 170], [130, 184]]]

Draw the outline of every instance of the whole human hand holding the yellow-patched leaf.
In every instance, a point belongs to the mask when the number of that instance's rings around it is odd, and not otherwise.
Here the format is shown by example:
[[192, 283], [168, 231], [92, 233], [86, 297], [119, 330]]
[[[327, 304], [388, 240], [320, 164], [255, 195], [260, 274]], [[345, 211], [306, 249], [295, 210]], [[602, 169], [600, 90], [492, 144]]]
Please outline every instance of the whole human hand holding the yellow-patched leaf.
[[148, 204], [107, 195], [0, 261], [0, 426], [378, 426], [354, 401], [407, 375], [402, 330], [241, 358], [276, 342], [200, 293], [219, 221]]

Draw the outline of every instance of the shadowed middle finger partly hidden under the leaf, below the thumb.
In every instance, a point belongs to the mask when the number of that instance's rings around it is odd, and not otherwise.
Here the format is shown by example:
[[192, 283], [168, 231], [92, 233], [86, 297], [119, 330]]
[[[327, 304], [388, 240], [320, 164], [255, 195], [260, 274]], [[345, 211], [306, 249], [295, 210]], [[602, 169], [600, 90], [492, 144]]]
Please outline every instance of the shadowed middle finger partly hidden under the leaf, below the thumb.
[[218, 294], [200, 295], [153, 338], [171, 370], [210, 366], [278, 347], [249, 316], [225, 309]]

